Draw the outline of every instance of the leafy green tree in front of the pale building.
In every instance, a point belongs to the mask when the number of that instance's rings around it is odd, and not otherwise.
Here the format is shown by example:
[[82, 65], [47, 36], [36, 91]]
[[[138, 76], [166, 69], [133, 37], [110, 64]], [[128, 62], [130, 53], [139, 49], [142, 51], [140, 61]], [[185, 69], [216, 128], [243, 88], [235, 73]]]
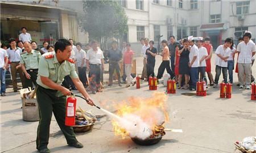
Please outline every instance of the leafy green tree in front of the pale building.
[[102, 49], [106, 48], [106, 41], [110, 37], [119, 39], [127, 32], [127, 16], [117, 1], [85, 0], [83, 5], [82, 28], [89, 33], [90, 40], [101, 43]]

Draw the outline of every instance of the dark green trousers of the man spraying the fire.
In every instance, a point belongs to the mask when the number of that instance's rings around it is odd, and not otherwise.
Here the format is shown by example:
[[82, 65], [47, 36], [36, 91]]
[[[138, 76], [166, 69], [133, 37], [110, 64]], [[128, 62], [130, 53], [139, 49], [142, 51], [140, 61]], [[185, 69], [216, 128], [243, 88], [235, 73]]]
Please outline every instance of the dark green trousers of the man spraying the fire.
[[58, 92], [60, 91], [46, 89], [41, 86], [38, 86], [38, 90], [36, 91], [36, 100], [38, 100], [40, 117], [38, 134], [36, 137], [36, 148], [38, 150], [47, 148], [52, 112], [55, 116], [57, 124], [67, 140], [67, 143], [71, 144], [77, 142], [73, 128], [71, 126], [65, 126], [65, 105], [67, 97], [57, 97], [57, 95], [59, 95]]

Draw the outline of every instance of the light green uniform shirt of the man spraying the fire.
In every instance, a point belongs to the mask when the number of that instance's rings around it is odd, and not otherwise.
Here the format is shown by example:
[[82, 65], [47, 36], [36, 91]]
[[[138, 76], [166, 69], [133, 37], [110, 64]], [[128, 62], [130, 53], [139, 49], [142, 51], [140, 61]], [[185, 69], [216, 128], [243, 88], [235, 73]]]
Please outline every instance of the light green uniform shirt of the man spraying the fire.
[[[51, 55], [51, 58], [47, 58], [47, 56]], [[48, 77], [53, 82], [61, 84], [64, 77], [67, 75], [71, 76], [71, 78], [78, 78], [75, 64], [68, 61], [64, 61], [60, 64], [57, 60], [55, 52], [45, 53], [39, 62], [38, 79], [36, 80], [36, 83], [44, 88], [52, 89], [42, 83], [40, 76]]]

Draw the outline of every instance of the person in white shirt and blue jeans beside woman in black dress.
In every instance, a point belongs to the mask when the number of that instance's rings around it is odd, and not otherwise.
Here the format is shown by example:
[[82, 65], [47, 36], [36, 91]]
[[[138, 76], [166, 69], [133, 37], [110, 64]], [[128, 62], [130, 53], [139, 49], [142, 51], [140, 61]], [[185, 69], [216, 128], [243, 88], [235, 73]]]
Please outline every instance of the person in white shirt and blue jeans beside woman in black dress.
[[200, 66], [199, 62], [199, 50], [197, 46], [194, 44], [193, 36], [188, 37], [188, 42], [191, 47], [189, 48], [189, 63], [190, 67], [190, 84], [189, 90], [196, 90], [196, 82], [198, 80], [198, 67]]

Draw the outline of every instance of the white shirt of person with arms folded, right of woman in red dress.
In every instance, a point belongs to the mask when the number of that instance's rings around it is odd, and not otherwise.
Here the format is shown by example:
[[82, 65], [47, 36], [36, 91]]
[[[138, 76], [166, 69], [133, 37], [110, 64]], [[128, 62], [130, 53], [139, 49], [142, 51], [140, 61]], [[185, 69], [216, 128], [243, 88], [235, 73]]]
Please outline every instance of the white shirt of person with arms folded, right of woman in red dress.
[[[216, 49], [215, 54], [216, 55], [220, 54], [221, 56], [229, 57], [230, 52], [231, 52], [230, 48], [224, 49], [223, 45], [220, 45]], [[223, 59], [221, 59], [218, 56], [216, 56], [215, 63], [216, 63], [216, 65], [221, 66], [221, 67], [228, 67], [228, 62], [225, 62]]]

